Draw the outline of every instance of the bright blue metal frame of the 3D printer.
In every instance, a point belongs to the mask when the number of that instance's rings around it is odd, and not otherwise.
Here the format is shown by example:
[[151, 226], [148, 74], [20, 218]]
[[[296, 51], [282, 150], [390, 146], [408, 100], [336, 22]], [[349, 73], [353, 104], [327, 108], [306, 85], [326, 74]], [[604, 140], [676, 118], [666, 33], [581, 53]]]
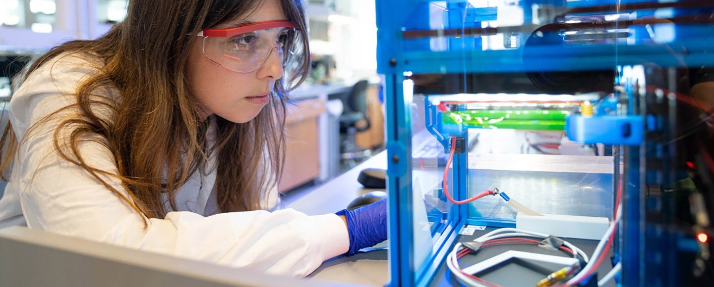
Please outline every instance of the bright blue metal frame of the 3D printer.
[[[676, 0], [675, 0], [676, 1]], [[680, 0], [683, 1], [683, 0]], [[539, 57], [523, 61], [523, 49], [505, 49], [500, 51], [481, 51], [480, 36], [449, 38], [446, 51], [431, 51], [430, 38], [403, 38], [403, 31], [429, 30], [429, 4], [433, 0], [376, 0], [377, 12], [377, 63], [378, 73], [385, 77], [386, 103], [386, 140], [388, 154], [388, 224], [390, 240], [389, 260], [391, 286], [424, 286], [431, 281], [438, 266], [448, 254], [448, 249], [458, 237], [458, 231], [464, 224], [488, 226], [513, 226], [512, 220], [483, 218], [468, 208], [469, 204], [451, 206], [447, 224], [438, 226], [443, 231], [441, 238], [434, 245], [431, 254], [421, 266], [414, 261], [414, 226], [413, 194], [411, 190], [411, 97], [405, 95], [403, 87], [407, 72], [411, 73], [510, 73], [523, 71], [592, 71], [597, 69], [615, 69], [623, 66], [655, 63], [663, 67], [711, 65], [713, 58], [706, 53], [714, 38], [714, 28], [710, 25], [675, 26], [675, 35], [665, 43], [658, 43], [648, 38], [650, 35], [635, 27], [628, 33], [628, 41], [647, 43], [646, 45], [590, 44], [583, 46], [551, 45], [536, 46], [529, 53]], [[449, 13], [444, 18], [445, 28], [479, 28], [481, 21], [492, 21], [497, 11], [494, 9], [474, 8], [466, 0], [446, 0]], [[568, 8], [608, 6], [615, 4], [658, 3], [657, 0], [522, 0], [524, 11], [530, 12], [531, 4], [550, 4]], [[623, 11], [624, 12], [624, 11]], [[645, 11], [648, 14], [651, 11]], [[651, 12], [653, 13], [653, 12]], [[651, 14], [650, 13], [650, 14]], [[686, 13], [675, 11], [673, 13]], [[527, 17], [531, 14], [526, 13]], [[585, 14], [584, 14], [585, 15]], [[530, 18], [527, 18], [529, 21]], [[466, 23], [463, 19], [468, 19]], [[661, 41], [662, 39], [656, 39]], [[619, 43], [619, 42], [618, 42]], [[475, 49], [474, 49], [475, 48]], [[620, 78], [613, 79], [620, 83]], [[627, 79], [624, 79], [627, 80]], [[627, 86], [627, 85], [625, 85]], [[626, 90], [629, 103], [636, 103], [636, 91]], [[616, 103], [611, 103], [616, 105]], [[630, 118], [598, 119], [598, 125], [608, 125], [612, 120], [635, 122], [638, 131], [646, 126], [646, 120], [638, 118], [632, 105], [628, 105]], [[449, 138], [441, 131], [436, 107], [426, 105], [426, 113], [436, 122], [428, 123], [432, 132], [448, 151]], [[649, 120], [649, 119], [648, 119]], [[656, 120], [656, 119], [655, 119]], [[581, 126], [590, 125], [582, 124]], [[585, 137], [583, 137], [585, 138]], [[582, 140], [582, 139], [581, 139]], [[601, 142], [602, 140], [596, 140]], [[640, 224], [645, 218], [645, 178], [640, 174], [643, 167], [646, 147], [638, 147], [642, 141], [623, 142], [613, 139], [613, 145], [633, 145], [627, 150], [626, 182], [623, 184], [624, 217], [627, 219], [618, 234], [628, 240], [620, 246], [623, 254], [618, 258], [623, 262], [623, 277], [628, 285], [641, 286], [645, 280], [645, 232]], [[451, 180], [455, 199], [466, 199], [465, 153], [455, 155]]]

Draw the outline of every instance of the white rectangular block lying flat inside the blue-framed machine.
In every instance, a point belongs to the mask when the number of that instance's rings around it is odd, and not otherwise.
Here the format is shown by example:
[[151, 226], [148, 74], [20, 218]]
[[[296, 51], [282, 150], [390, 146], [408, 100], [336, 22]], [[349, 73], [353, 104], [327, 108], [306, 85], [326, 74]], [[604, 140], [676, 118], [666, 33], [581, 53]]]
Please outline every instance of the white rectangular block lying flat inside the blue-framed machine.
[[516, 229], [540, 232], [558, 237], [595, 239], [603, 238], [610, 221], [607, 217], [543, 214], [526, 215], [518, 212]]

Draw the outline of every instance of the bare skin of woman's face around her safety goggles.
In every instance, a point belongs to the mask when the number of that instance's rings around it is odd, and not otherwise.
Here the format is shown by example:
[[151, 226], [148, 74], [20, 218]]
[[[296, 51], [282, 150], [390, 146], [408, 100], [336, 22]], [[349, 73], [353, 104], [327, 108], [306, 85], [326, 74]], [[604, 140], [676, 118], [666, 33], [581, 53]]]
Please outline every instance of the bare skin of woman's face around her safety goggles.
[[[211, 28], [232, 28], [250, 22], [286, 20], [278, 0], [263, 1], [250, 15]], [[188, 58], [188, 81], [198, 100], [201, 119], [216, 114], [231, 122], [243, 123], [256, 118], [271, 100], [276, 80], [283, 76], [283, 66], [275, 51], [258, 70], [238, 73], [203, 55], [203, 37], [196, 36]]]

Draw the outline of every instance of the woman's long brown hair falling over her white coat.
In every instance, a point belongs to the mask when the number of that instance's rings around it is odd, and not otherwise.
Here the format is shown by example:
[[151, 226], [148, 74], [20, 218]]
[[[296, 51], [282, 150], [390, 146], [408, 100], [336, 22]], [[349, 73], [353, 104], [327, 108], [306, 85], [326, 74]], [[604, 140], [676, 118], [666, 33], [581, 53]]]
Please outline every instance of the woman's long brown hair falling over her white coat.
[[[283, 12], [307, 39], [302, 0], [280, 0]], [[65, 160], [86, 169], [99, 182], [149, 218], [163, 218], [166, 208], [161, 194], [168, 195], [176, 210], [179, 187], [199, 167], [206, 165], [208, 152], [216, 152], [218, 174], [216, 195], [219, 212], [260, 208], [261, 192], [275, 187], [283, 166], [285, 110], [288, 91], [305, 80], [310, 65], [307, 41], [291, 43], [300, 51], [276, 82], [271, 103], [246, 123], [236, 124], [216, 116], [217, 142], [206, 148], [205, 125], [198, 117], [197, 103], [186, 79], [188, 51], [196, 33], [255, 11], [261, 0], [131, 0], [126, 19], [105, 36], [93, 41], [71, 41], [51, 49], [37, 59], [21, 78], [60, 55], [80, 54], [104, 62], [96, 75], [76, 88], [77, 103], [62, 108], [79, 110], [73, 118], [63, 118], [56, 127], [54, 146]], [[299, 38], [299, 37], [298, 37]], [[101, 95], [107, 88], [119, 93], [119, 100]], [[116, 93], [116, 92], [115, 92]], [[111, 117], [96, 112], [109, 108]], [[49, 120], [44, 118], [38, 125]], [[26, 133], [29, 134], [31, 129]], [[68, 133], [69, 131], [69, 133]], [[25, 137], [26, 137], [25, 135]], [[69, 135], [62, 137], [61, 135]], [[88, 165], [78, 142], [95, 138], [114, 152], [119, 174]], [[24, 138], [25, 138], [24, 137]], [[2, 155], [0, 173], [5, 174], [18, 152], [19, 144], [9, 123], [0, 139], [7, 150]], [[270, 177], [268, 174], [275, 174]], [[112, 187], [104, 176], [121, 179], [130, 198]]]

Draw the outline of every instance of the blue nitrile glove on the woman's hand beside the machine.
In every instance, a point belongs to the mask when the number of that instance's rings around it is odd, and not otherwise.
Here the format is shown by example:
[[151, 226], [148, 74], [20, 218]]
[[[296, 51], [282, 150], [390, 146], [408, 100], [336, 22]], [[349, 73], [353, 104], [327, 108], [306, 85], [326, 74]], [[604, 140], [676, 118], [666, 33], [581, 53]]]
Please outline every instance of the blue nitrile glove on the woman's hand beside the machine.
[[347, 219], [350, 249], [346, 255], [387, 240], [387, 200], [381, 199], [358, 209], [342, 209], [337, 215]]

